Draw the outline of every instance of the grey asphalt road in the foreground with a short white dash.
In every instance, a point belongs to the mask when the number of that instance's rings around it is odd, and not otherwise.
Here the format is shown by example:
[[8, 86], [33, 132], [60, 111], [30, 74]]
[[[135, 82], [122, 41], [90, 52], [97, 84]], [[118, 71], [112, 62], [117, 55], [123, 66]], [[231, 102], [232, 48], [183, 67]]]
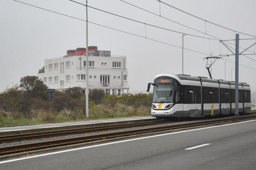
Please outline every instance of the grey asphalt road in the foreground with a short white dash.
[[255, 141], [256, 120], [0, 162], [0, 169], [255, 170]]

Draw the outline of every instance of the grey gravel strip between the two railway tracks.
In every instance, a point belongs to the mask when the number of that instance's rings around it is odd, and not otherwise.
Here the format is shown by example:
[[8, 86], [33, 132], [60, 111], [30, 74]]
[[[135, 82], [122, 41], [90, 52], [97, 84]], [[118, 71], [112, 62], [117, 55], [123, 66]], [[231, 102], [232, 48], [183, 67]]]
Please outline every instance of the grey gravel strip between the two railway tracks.
[[[224, 117], [224, 118], [222, 118], [222, 120], [229, 119], [229, 118], [230, 118], [230, 116]], [[56, 136], [56, 137], [33, 139], [33, 140], [24, 140], [24, 141], [10, 142], [10, 143], [1, 143], [0, 148], [10, 147], [10, 146], [17, 146], [17, 145], [25, 145], [25, 144], [29, 144], [29, 143], [44, 142], [44, 141], [53, 141], [53, 140], [76, 138], [76, 137], [86, 137], [86, 136], [91, 136], [91, 135], [101, 135], [101, 134], [106, 134], [106, 133], [126, 132], [126, 131], [129, 131], [129, 130], [138, 130], [138, 129], [145, 129], [145, 128], [153, 128], [153, 127], [164, 127], [164, 126], [170, 126], [170, 125], [180, 125], [180, 124], [195, 123], [195, 122], [213, 121], [213, 120], [219, 120], [219, 118], [216, 118], [216, 119], [201, 119], [201, 120], [192, 120], [192, 121], [189, 120], [189, 121], [180, 121], [180, 122], [173, 122], [172, 121], [172, 122], [169, 122], [169, 123], [151, 125], [151, 126], [121, 128], [121, 129], [106, 130], [106, 131], [101, 131], [101, 132], [66, 135], [66, 136]]]

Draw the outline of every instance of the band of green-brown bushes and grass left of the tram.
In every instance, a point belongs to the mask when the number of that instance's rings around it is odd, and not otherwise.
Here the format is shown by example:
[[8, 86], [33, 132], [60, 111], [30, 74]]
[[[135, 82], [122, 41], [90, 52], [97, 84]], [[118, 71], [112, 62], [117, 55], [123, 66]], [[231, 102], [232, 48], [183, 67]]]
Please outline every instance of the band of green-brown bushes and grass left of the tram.
[[[150, 115], [152, 94], [105, 95], [101, 89], [89, 93], [89, 118]], [[47, 87], [37, 76], [25, 76], [20, 85], [0, 94], [0, 126], [86, 120], [82, 88], [56, 91], [47, 100]]]

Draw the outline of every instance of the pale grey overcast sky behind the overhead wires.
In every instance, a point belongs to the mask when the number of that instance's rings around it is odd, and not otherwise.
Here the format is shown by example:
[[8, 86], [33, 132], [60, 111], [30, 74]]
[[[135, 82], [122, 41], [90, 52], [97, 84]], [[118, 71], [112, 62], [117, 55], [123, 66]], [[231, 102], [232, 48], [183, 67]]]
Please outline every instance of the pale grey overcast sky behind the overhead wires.
[[[85, 19], [85, 7], [67, 0], [20, 1]], [[77, 1], [85, 3], [82, 0]], [[159, 3], [156, 0], [127, 0], [127, 2], [159, 13]], [[256, 35], [256, 1], [254, 0], [165, 0], [165, 2], [208, 21]], [[89, 0], [88, 5], [160, 27], [207, 36], [124, 4], [119, 0]], [[86, 46], [85, 22], [83, 21], [53, 14], [11, 0], [0, 1], [0, 14], [0, 91], [3, 91], [6, 87], [11, 87], [12, 84], [19, 83], [22, 76], [37, 75], [38, 70], [43, 66], [44, 59], [64, 56], [68, 49]], [[185, 15], [173, 8], [161, 5], [161, 15], [205, 32], [204, 21]], [[121, 19], [90, 8], [88, 16], [88, 20], [91, 22], [142, 36], [145, 35], [144, 24]], [[93, 24], [89, 24], [88, 32], [89, 46], [98, 46], [99, 50], [111, 50], [112, 55], [125, 55], [127, 57], [129, 84], [132, 92], [142, 91], [145, 93], [147, 83], [152, 82], [154, 76], [158, 73], [181, 73], [182, 50], [180, 48]], [[206, 32], [222, 40], [234, 39], [234, 32], [208, 23], [206, 24]], [[182, 35], [178, 33], [147, 26], [146, 34], [149, 38], [177, 46], [182, 45]], [[251, 37], [240, 34], [240, 38]], [[240, 46], [248, 47], [253, 43], [254, 41], [240, 41]], [[210, 41], [209, 46], [208, 40], [189, 35], [184, 36], [184, 47], [202, 51], [206, 54], [213, 53], [213, 55], [229, 53], [223, 45], [219, 46], [218, 41]], [[251, 50], [254, 51], [254, 47]], [[184, 74], [208, 76], [204, 57], [207, 56], [184, 50]], [[256, 56], [249, 57], [256, 59]], [[245, 57], [240, 58], [242, 64], [256, 69], [255, 61]], [[235, 57], [226, 59], [234, 61]], [[226, 63], [227, 80], [231, 80], [231, 69], [234, 69], [234, 67], [234, 63]], [[214, 79], [224, 79], [224, 60], [217, 60], [212, 72]], [[234, 80], [235, 69], [233, 72]], [[256, 90], [256, 71], [240, 67], [239, 81], [249, 83], [251, 88]]]

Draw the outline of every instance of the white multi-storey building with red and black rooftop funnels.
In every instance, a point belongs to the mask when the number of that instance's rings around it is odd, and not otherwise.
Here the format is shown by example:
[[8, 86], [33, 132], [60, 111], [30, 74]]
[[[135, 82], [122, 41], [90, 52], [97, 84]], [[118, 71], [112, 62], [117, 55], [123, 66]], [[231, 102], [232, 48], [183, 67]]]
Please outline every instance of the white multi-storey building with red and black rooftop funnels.
[[129, 93], [127, 81], [126, 57], [111, 56], [110, 51], [99, 51], [96, 46], [67, 50], [67, 55], [46, 59], [38, 77], [51, 89], [64, 90], [69, 87], [86, 86], [86, 67], [89, 66], [90, 89], [103, 89], [106, 94], [121, 95]]

